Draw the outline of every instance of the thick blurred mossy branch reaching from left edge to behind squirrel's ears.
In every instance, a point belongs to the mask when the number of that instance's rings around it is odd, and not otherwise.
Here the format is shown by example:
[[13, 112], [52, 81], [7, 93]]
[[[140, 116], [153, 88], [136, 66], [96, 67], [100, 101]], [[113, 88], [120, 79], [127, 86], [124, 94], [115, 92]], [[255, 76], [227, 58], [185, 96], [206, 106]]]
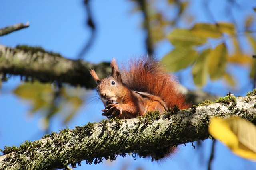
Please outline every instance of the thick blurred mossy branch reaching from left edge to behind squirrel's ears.
[[[110, 73], [109, 63], [98, 66], [82, 60], [71, 60], [60, 54], [46, 52], [40, 47], [18, 46], [9, 48], [0, 45], [0, 73], [26, 77], [26, 80], [37, 79], [40, 82], [60, 82], [92, 88], [94, 80], [89, 69], [105, 75]], [[103, 76], [102, 76], [103, 77]]]

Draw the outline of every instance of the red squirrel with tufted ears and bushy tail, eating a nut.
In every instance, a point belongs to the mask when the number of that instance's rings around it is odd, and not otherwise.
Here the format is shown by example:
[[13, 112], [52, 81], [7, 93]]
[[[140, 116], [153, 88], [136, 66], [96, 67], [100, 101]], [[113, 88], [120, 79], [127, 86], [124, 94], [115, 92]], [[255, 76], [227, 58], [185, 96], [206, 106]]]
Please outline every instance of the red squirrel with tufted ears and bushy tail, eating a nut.
[[179, 109], [190, 107], [173, 76], [151, 57], [131, 61], [121, 70], [113, 59], [111, 69], [111, 75], [102, 80], [94, 70], [90, 70], [105, 106], [102, 115], [108, 118], [130, 119], [156, 110], [164, 113], [174, 105]]

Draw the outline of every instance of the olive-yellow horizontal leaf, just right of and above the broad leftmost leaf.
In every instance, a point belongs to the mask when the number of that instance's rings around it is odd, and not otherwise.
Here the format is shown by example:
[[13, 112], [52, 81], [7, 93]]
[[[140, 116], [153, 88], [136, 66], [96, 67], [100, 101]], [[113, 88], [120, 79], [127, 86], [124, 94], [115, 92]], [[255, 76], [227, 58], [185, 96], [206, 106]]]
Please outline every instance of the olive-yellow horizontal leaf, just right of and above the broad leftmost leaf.
[[194, 35], [206, 38], [219, 38], [222, 36], [217, 25], [210, 23], [196, 23], [190, 30]]

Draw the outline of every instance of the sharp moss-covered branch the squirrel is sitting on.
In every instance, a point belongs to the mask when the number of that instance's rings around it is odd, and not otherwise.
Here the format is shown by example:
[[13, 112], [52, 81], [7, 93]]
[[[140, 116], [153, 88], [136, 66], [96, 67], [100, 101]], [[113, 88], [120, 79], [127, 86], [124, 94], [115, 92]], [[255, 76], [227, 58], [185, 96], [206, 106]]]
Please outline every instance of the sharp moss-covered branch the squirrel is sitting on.
[[38, 141], [26, 141], [20, 147], [6, 147], [0, 156], [0, 169], [56, 169], [79, 165], [82, 160], [90, 164], [115, 160], [117, 155], [127, 153], [158, 159], [171, 146], [207, 139], [211, 117], [236, 115], [256, 124], [256, 96], [252, 94], [226, 96], [218, 100], [222, 103], [193, 106], [176, 113], [170, 109], [164, 115], [152, 113], [64, 129]]

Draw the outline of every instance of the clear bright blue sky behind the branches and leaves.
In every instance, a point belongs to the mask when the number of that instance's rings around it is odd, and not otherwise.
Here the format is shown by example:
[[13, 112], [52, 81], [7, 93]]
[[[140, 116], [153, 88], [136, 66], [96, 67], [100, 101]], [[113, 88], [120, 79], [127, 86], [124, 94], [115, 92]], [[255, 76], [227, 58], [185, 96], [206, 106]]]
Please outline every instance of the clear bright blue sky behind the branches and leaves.
[[[85, 56], [86, 61], [98, 63], [100, 61], [110, 61], [116, 57], [118, 61], [124, 61], [133, 56], [145, 55], [144, 38], [145, 33], [141, 29], [142, 15], [132, 13], [134, 4], [124, 0], [92, 2], [93, 18], [96, 23], [95, 41]], [[196, 7], [195, 7], [196, 8]], [[204, 17], [202, 17], [204, 20]], [[85, 11], [82, 0], [44, 0], [44, 1], [4, 1], [0, 5], [0, 27], [6, 27], [15, 23], [26, 23], [29, 21], [30, 27], [9, 35], [0, 37], [0, 44], [15, 47], [18, 44], [31, 46], [41, 46], [46, 50], [58, 52], [61, 55], [75, 59], [90, 35], [90, 30], [85, 25]], [[166, 51], [170, 50], [170, 45], [160, 44], [156, 50], [156, 57], [160, 58]], [[242, 66], [240, 69], [232, 68], [234, 72], [246, 75], [248, 70]], [[195, 88], [192, 82], [190, 70], [177, 74], [181, 77], [181, 82], [190, 88]], [[238, 76], [241, 87], [247, 86], [249, 80], [243, 76]], [[37, 140], [44, 134], [40, 129], [40, 114], [29, 115], [30, 105], [21, 100], [12, 90], [20, 83], [19, 77], [12, 77], [8, 82], [2, 83], [0, 89], [0, 148], [4, 145], [19, 145], [25, 140]], [[207, 85], [210, 92], [217, 92], [224, 95], [230, 87], [225, 86], [222, 81], [210, 82]], [[239, 95], [244, 95], [248, 91], [239, 91]], [[88, 93], [88, 92], [86, 92]], [[95, 91], [90, 91], [96, 95]], [[86, 97], [86, 96], [85, 96]], [[82, 126], [88, 121], [99, 122], [102, 117], [100, 110], [103, 105], [98, 102], [89, 102], [82, 107], [76, 117], [68, 123], [70, 129], [74, 126]], [[51, 122], [51, 130], [58, 131], [66, 127], [56, 116]], [[206, 169], [207, 160], [210, 153], [211, 143], [209, 140], [203, 142], [202, 152], [194, 150], [190, 143], [180, 146], [177, 154], [171, 159], [162, 162], [150, 162], [150, 159], [137, 158], [132, 156], [118, 158], [118, 161], [104, 161], [99, 165], [85, 165], [77, 169], [112, 169], [118, 170], [127, 166], [128, 170], [143, 168], [153, 169]], [[213, 161], [213, 169], [244, 169], [254, 167], [256, 164], [233, 155], [222, 144], [217, 144], [217, 150]], [[248, 169], [248, 168], [247, 168]]]

